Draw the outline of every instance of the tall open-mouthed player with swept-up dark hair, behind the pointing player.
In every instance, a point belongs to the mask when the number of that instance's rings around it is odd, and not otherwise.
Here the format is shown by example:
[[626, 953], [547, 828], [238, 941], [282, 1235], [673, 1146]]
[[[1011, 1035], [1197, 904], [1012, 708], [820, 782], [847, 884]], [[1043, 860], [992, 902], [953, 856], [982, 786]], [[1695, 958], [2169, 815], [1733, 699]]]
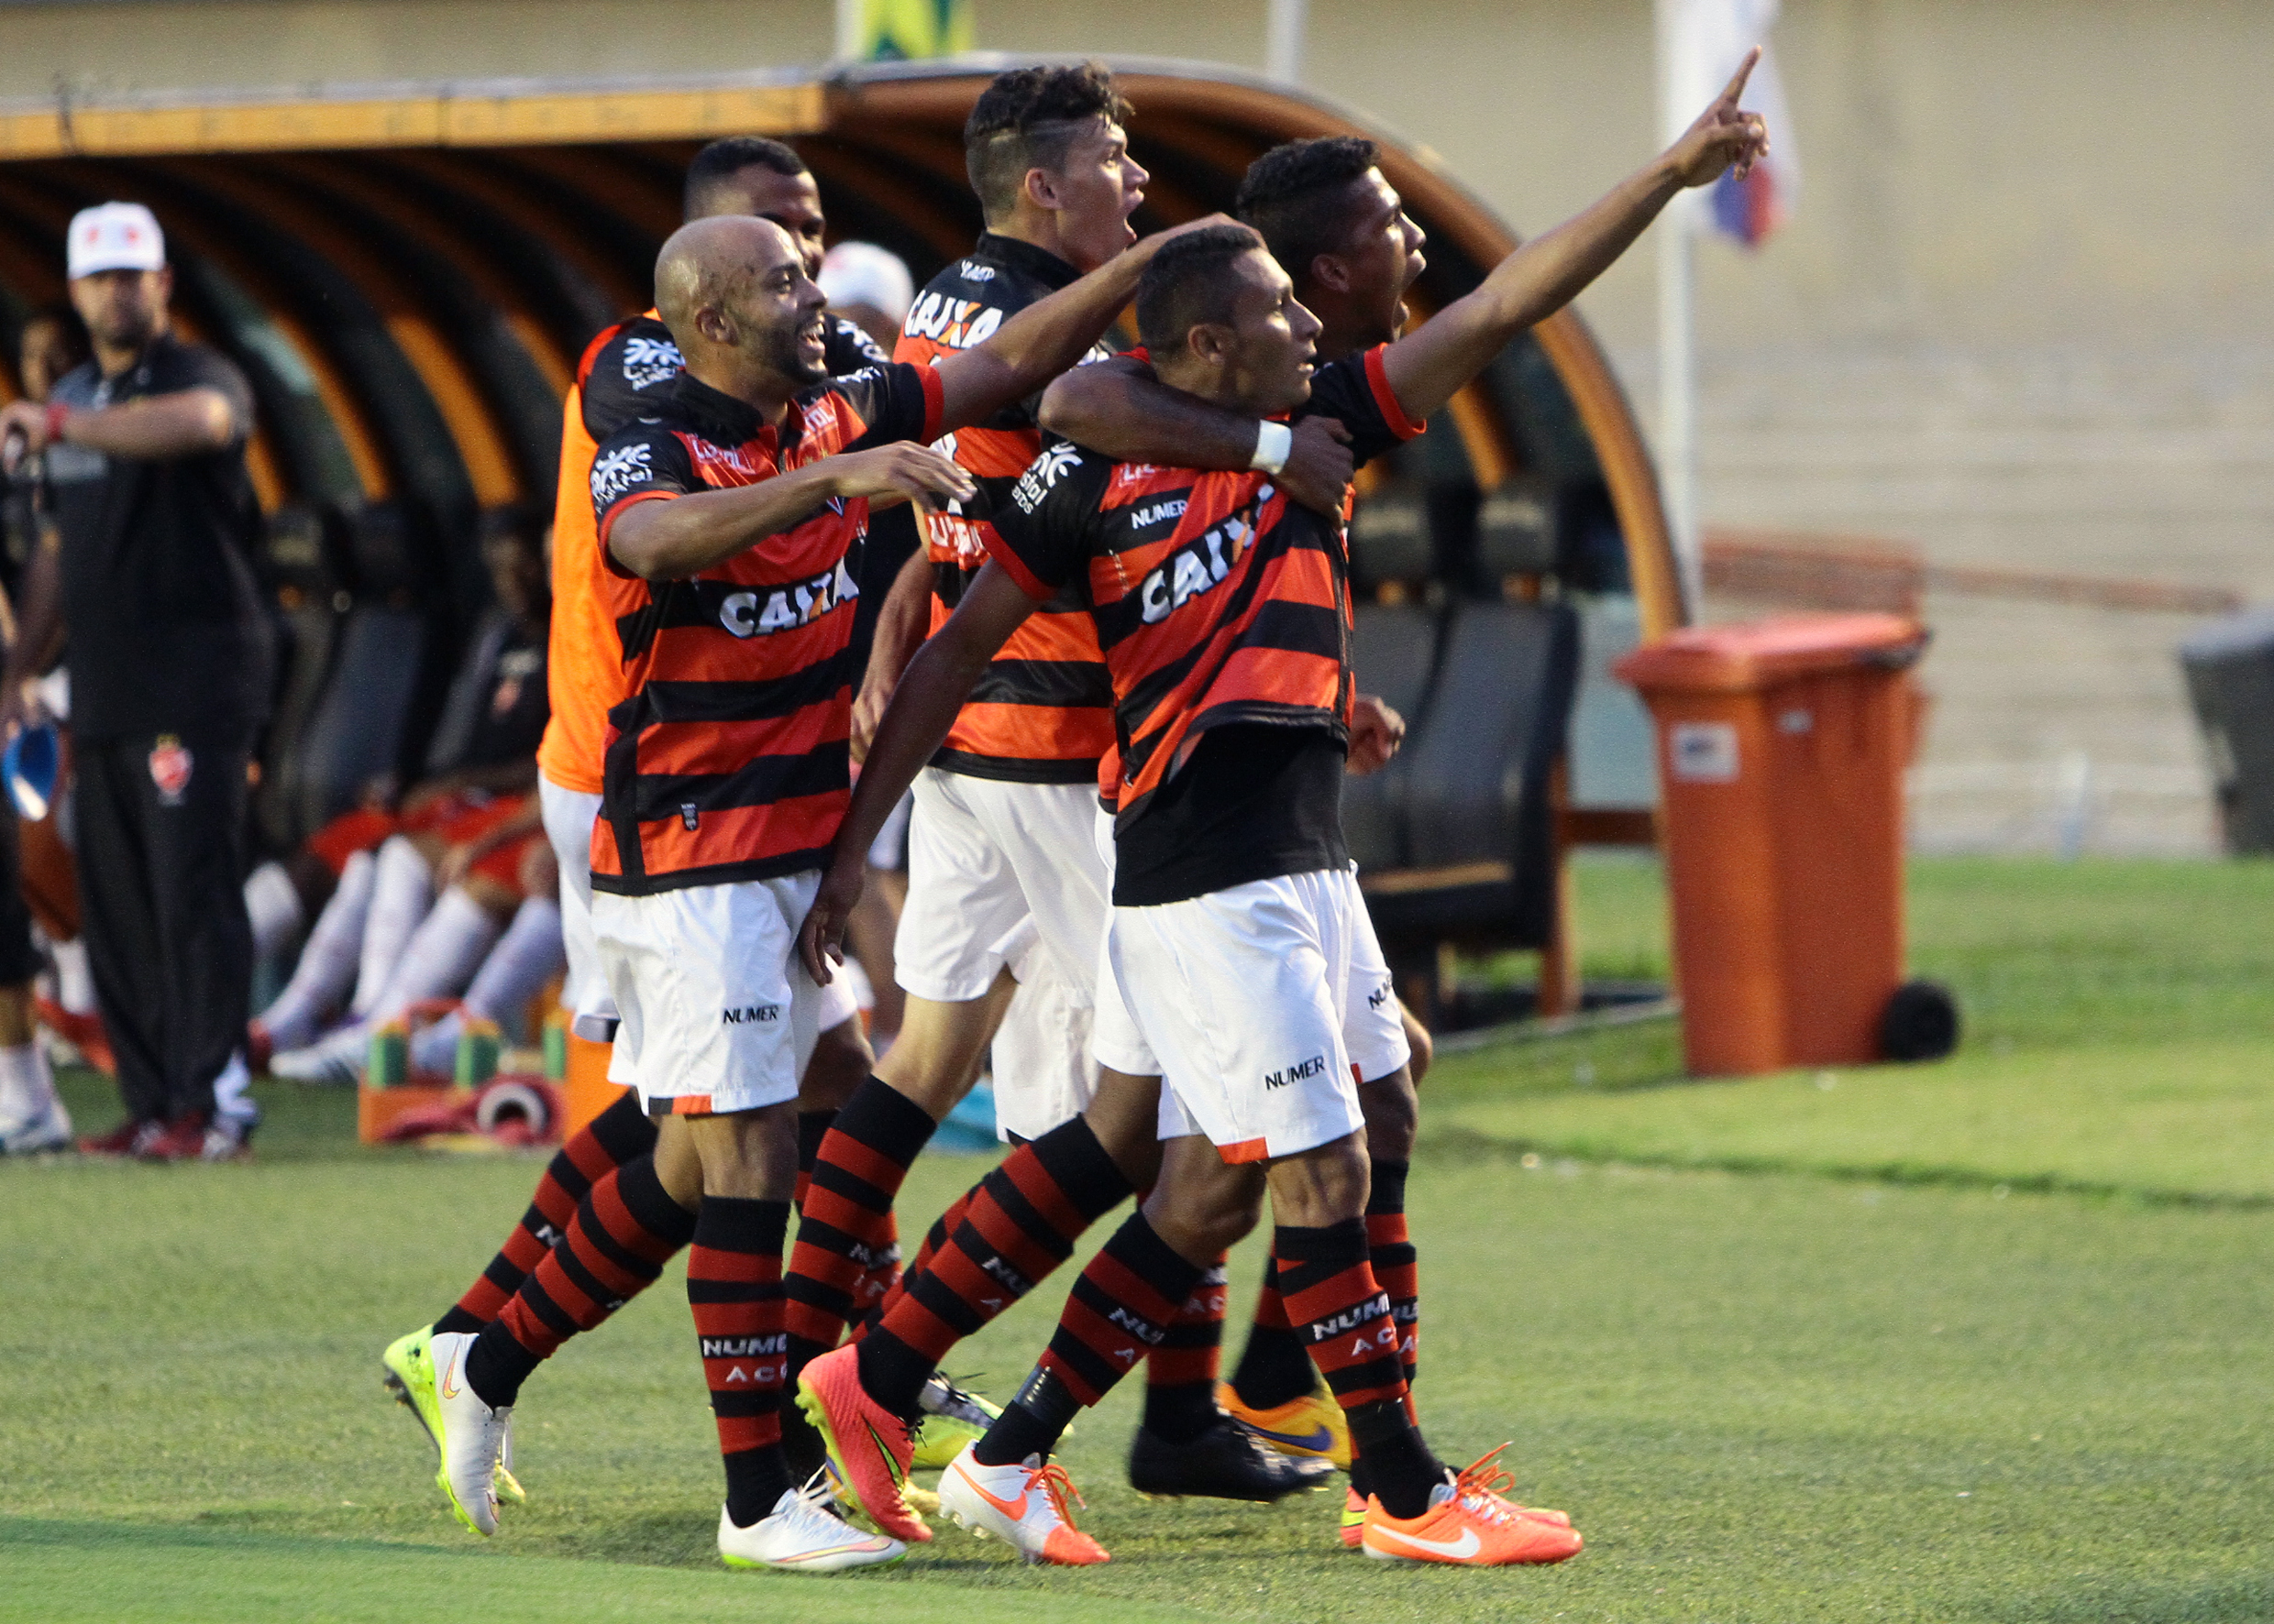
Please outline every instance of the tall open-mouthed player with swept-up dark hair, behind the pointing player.
[[[1128, 154], [1128, 102], [1098, 64], [1019, 68], [987, 86], [964, 125], [964, 159], [987, 232], [971, 254], [941, 270], [916, 298], [898, 359], [932, 361], [982, 341], [1003, 320], [1132, 241], [1128, 218], [1144, 198], [1146, 173]], [[1253, 438], [1228, 468], [1251, 466]], [[1287, 436], [1264, 436], [1264, 443], [1269, 466], [1285, 470], [1305, 500], [1321, 509], [1339, 504], [1348, 457], [1330, 436], [1305, 434], [1298, 445]], [[1014, 402], [957, 432], [948, 445], [976, 491], [946, 511], [923, 516], [926, 556], [903, 570], [880, 618], [875, 654], [855, 704], [855, 747], [926, 631], [946, 622], [985, 563], [989, 516], [1041, 450], [1035, 402]], [[1132, 447], [1137, 454], [1148, 450], [1171, 457], [1178, 447], [1173, 441]], [[1092, 843], [1092, 822], [1098, 761], [1112, 747], [1110, 704], [1112, 686], [1087, 613], [1071, 600], [1048, 604], [1003, 647], [946, 747], [916, 779], [907, 904], [894, 945], [898, 981], [907, 993], [905, 1015], [878, 1079], [846, 1104], [821, 1145], [816, 1186], [823, 1197], [798, 1229], [787, 1281], [794, 1376], [837, 1345], [855, 1306], [860, 1258], [887, 1233], [907, 1165], [969, 1088], [1003, 1018], [1003, 945], [1028, 924], [1039, 936], [1035, 963], [1044, 979], [1021, 997], [1032, 1004], [1039, 986], [1048, 986], [1051, 997], [1067, 1006], [1073, 1033], [1069, 1043], [1051, 1045], [1060, 1068], [1014, 1068], [996, 1077], [996, 1088], [1005, 1115], [1023, 1124], [1032, 1113], [1019, 1106], [1039, 1095], [1048, 1102], [1041, 1127], [1064, 1124], [1067, 1131], [1037, 1136], [991, 1174], [1003, 1199], [989, 1197], [987, 1206], [1003, 1211], [1007, 1202], [1010, 1211], [1028, 1211], [1032, 1247], [1023, 1263], [1012, 1265], [973, 1231], [962, 1249], [969, 1263], [962, 1279], [985, 1274], [994, 1258], [1016, 1286], [1007, 1295], [989, 1292], [991, 1301], [953, 1292], [953, 1301], [939, 1304], [941, 1313], [910, 1308], [901, 1329], [910, 1317], [919, 1329], [882, 1338], [864, 1361], [871, 1399], [912, 1417], [919, 1363], [930, 1370], [955, 1336], [998, 1313], [1039, 1272], [1062, 1261], [1087, 1222], [1112, 1211], [1132, 1188], [1151, 1183], [1157, 1158], [1151, 1127], [1155, 1079], [1123, 1077], [1110, 1061], [1101, 1077], [1085, 1063], [1096, 943], [1105, 922], [1105, 868]], [[1028, 1056], [1041, 1049], [1039, 1043], [1023, 1045]], [[1389, 1061], [1399, 1063], [1403, 1054]], [[1080, 1117], [1069, 1122], [1062, 1111], [1062, 1104], [1092, 1104], [1094, 1093], [1103, 1138]], [[1032, 1206], [1039, 1190], [1076, 1186], [1082, 1190], [1078, 1202], [1041, 1199], [1039, 1208]], [[957, 1204], [953, 1222], [944, 1220], [935, 1231], [944, 1242], [957, 1236], [969, 1199]], [[1287, 1470], [1221, 1424], [1212, 1392], [1221, 1299], [1221, 1281], [1194, 1297], [1192, 1315], [1178, 1326], [1178, 1351], [1151, 1372], [1155, 1386], [1137, 1440], [1135, 1479], [1148, 1492], [1276, 1499], [1314, 1474]], [[894, 1370], [887, 1372], [885, 1363]]]

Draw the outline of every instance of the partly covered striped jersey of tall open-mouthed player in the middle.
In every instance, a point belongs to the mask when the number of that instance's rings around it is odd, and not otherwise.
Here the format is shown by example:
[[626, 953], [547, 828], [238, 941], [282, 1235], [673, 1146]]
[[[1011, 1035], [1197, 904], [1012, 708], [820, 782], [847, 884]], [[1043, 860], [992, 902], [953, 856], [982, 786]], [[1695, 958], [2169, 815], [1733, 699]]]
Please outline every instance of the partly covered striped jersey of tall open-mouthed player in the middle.
[[[989, 232], [969, 257], [951, 263], [916, 295], [894, 359], [935, 361], [969, 350], [1010, 316], [1078, 277], [1057, 254]], [[1110, 350], [1096, 348], [1089, 359], [1107, 354]], [[989, 520], [1041, 452], [1044, 434], [1035, 420], [1039, 404], [1039, 395], [1016, 402], [939, 443], [971, 475], [978, 495], [944, 513], [923, 516], [932, 561], [932, 631], [946, 625], [971, 577], [987, 563]], [[1073, 595], [1051, 600], [987, 665], [932, 765], [982, 779], [1087, 784], [1114, 736], [1112, 702], [1085, 604]]]

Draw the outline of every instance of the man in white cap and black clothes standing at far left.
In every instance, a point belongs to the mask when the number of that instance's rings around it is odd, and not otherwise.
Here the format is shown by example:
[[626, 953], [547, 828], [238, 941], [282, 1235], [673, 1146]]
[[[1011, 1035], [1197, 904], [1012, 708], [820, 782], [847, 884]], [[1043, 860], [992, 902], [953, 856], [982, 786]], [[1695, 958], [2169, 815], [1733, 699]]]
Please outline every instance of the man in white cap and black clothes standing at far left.
[[0, 457], [48, 454], [57, 541], [25, 577], [0, 722], [68, 638], [80, 895], [127, 1120], [82, 1149], [227, 1158], [246, 1099], [252, 929], [246, 763], [268, 711], [246, 477], [252, 391], [166, 325], [166, 238], [136, 202], [70, 220], [93, 361], [0, 409]]

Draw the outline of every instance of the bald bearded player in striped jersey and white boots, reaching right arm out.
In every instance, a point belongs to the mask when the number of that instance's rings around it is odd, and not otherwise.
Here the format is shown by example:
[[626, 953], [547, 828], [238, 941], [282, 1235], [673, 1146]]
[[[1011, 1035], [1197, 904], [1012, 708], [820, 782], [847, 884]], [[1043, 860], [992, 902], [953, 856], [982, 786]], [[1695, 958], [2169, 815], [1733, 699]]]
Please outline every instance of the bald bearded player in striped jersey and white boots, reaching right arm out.
[[[796, 922], [848, 797], [857, 550], [869, 500], [971, 495], [930, 441], [1064, 370], [1128, 302], [1155, 243], [1021, 311], [935, 368], [828, 379], [823, 298], [766, 220], [682, 227], [657, 307], [687, 359], [655, 418], [594, 459], [609, 568], [646, 581], [625, 627], [630, 700], [609, 713], [594, 827], [594, 929], [616, 995], [614, 1074], [664, 1117], [655, 1167], [696, 1206], [696, 1311], [732, 1565], [903, 1556], [825, 1510], [780, 1449], [780, 1261], [796, 1179], [796, 1079], [819, 988]], [[434, 1336], [443, 1483], [496, 1529], [493, 1472], [518, 1372]]]

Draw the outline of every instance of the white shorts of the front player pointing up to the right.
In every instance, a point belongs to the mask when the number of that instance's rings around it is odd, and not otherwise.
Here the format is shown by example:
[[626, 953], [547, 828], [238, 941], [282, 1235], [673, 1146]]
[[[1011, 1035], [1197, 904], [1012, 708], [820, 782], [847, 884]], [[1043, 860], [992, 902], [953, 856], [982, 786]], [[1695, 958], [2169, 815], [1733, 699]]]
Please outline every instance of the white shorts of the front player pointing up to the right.
[[1364, 911], [1348, 868], [1114, 909], [1114, 979], [1167, 1083], [1162, 1138], [1205, 1133], [1244, 1163], [1360, 1131], [1348, 1029]]

